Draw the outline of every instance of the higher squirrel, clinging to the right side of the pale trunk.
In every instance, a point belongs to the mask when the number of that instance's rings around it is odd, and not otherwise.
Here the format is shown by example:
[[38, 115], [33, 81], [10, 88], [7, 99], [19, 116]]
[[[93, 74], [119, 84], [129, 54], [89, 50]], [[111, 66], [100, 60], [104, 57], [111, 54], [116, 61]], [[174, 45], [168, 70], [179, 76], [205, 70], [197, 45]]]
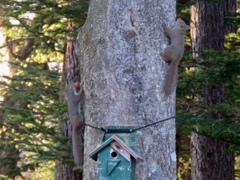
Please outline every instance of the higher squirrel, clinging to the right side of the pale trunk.
[[190, 26], [178, 18], [173, 29], [170, 30], [165, 24], [162, 27], [171, 40], [171, 44], [160, 54], [165, 62], [170, 63], [164, 85], [164, 92], [168, 96], [177, 84], [178, 65], [184, 53], [184, 33], [190, 29]]

